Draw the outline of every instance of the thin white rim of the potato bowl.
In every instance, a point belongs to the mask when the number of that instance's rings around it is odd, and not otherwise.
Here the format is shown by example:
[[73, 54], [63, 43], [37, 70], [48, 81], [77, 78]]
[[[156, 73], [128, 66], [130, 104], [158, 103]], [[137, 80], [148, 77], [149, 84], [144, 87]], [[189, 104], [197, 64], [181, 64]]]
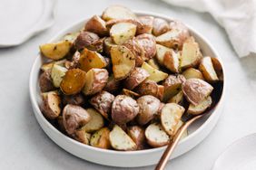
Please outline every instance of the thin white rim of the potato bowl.
[[[166, 15], [166, 14], [156, 14], [153, 12], [148, 12], [148, 11], [140, 11], [140, 10], [133, 10], [134, 14], [138, 14], [138, 15], [152, 15], [154, 17], [160, 17], [164, 20], [167, 20], [168, 22], [170, 22], [171, 20], [173, 20], [174, 18]], [[65, 33], [67, 33], [68, 30], [74, 28], [75, 26], [79, 25], [79, 24], [83, 24], [88, 18], [83, 18], [80, 19], [76, 22], [74, 22], [73, 24], [70, 24], [69, 26], [64, 27], [64, 29], [62, 29], [61, 31], [59, 31], [58, 33], [56, 33], [54, 35], [53, 38], [51, 38], [48, 42], [55, 42], [57, 39], [59, 39], [58, 37], [63, 36]], [[177, 19], [174, 19], [177, 20]], [[184, 24], [184, 23], [182, 23]], [[205, 44], [207, 44], [209, 46], [209, 49], [212, 50], [212, 52], [214, 53], [214, 55], [216, 56], [216, 58], [218, 58], [218, 60], [221, 62], [222, 64], [222, 71], [223, 71], [223, 88], [222, 88], [222, 96], [221, 99], [219, 101], [219, 103], [217, 104], [217, 106], [212, 109], [212, 113], [209, 116], [209, 118], [207, 118], [200, 127], [198, 127], [195, 131], [192, 132], [192, 134], [190, 134], [188, 137], [183, 138], [178, 145], [182, 145], [182, 143], [190, 140], [192, 137], [196, 136], [198, 133], [200, 133], [200, 131], [202, 131], [202, 129], [212, 120], [212, 118], [214, 116], [212, 116], [214, 113], [214, 111], [216, 109], [218, 109], [220, 107], [220, 103], [222, 103], [222, 100], [224, 99], [224, 94], [225, 94], [225, 84], [226, 84], [226, 74], [225, 74], [225, 69], [224, 69], [224, 65], [222, 62], [222, 58], [220, 57], [220, 54], [213, 48], [211, 42], [209, 42], [201, 33], [198, 33], [197, 31], [195, 31], [195, 29], [192, 28], [192, 26], [185, 24], [188, 28], [189, 31], [193, 34], [196, 34], [198, 37], [200, 37], [202, 39], [202, 42], [204, 42]], [[30, 78], [29, 78], [29, 93], [30, 93], [30, 100], [31, 103], [33, 105], [33, 108], [35, 109], [34, 111], [34, 116], [36, 117], [39, 116], [39, 118], [41, 118], [41, 120], [43, 120], [44, 124], [47, 127], [50, 127], [51, 130], [54, 132], [55, 135], [61, 137], [63, 140], [68, 140], [69, 142], [72, 143], [72, 145], [76, 145], [76, 146], [82, 146], [85, 149], [90, 149], [92, 151], [95, 152], [101, 152], [104, 154], [114, 154], [114, 155], [119, 155], [119, 156], [123, 156], [123, 155], [144, 155], [144, 154], [150, 154], [153, 152], [159, 152], [159, 151], [163, 151], [166, 146], [161, 146], [161, 147], [156, 147], [156, 148], [150, 148], [150, 149], [144, 149], [144, 150], [135, 150], [135, 151], [117, 151], [117, 150], [110, 150], [110, 149], [102, 149], [102, 148], [98, 148], [98, 147], [94, 147], [94, 146], [88, 146], [88, 145], [84, 145], [76, 140], [74, 140], [71, 137], [67, 137], [65, 136], [62, 132], [60, 132], [57, 128], [55, 128], [46, 118], [44, 118], [43, 113], [41, 112], [41, 110], [39, 109], [39, 105], [36, 101], [36, 91], [34, 91], [34, 73], [37, 72], [36, 70], [38, 70], [35, 66], [36, 66], [36, 61], [39, 60], [39, 58], [41, 58], [40, 53], [38, 52], [36, 58], [34, 59], [34, 63], [30, 72]], [[37, 76], [38, 79], [38, 76]], [[36, 86], [36, 85], [35, 85]], [[37, 118], [36, 118], [37, 120]], [[38, 121], [38, 120], [37, 120]], [[39, 122], [38, 122], [39, 123]], [[40, 125], [41, 127], [41, 125]], [[43, 127], [42, 127], [43, 128]], [[43, 129], [44, 130], [44, 129]], [[47, 134], [47, 133], [46, 133]], [[47, 134], [48, 136], [48, 134]], [[49, 136], [48, 136], [49, 137]], [[50, 137], [51, 138], [51, 137]], [[52, 138], [51, 138], [52, 139]], [[52, 139], [53, 140], [53, 139]], [[54, 141], [55, 142], [55, 141]], [[56, 143], [56, 142], [55, 142]], [[56, 143], [57, 144], [57, 143]], [[58, 144], [57, 144], [58, 145]]]

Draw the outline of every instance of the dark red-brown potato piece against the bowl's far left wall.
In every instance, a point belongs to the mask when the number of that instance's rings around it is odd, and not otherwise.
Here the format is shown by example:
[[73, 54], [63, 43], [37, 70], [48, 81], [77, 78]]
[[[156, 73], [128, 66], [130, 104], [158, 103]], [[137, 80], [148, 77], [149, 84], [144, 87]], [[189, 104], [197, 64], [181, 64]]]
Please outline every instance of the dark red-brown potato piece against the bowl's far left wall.
[[41, 92], [54, 90], [54, 84], [51, 79], [50, 71], [44, 71], [39, 77], [39, 87]]

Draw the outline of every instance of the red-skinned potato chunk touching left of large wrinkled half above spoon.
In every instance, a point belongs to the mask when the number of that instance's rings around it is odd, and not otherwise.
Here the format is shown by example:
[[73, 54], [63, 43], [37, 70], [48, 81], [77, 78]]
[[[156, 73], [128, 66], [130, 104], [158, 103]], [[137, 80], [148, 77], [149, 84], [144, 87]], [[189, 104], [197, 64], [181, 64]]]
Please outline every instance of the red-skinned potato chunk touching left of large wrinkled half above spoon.
[[163, 101], [167, 101], [175, 96], [180, 90], [182, 90], [182, 83], [185, 81], [182, 74], [169, 75], [166, 80], [163, 81], [164, 86]]

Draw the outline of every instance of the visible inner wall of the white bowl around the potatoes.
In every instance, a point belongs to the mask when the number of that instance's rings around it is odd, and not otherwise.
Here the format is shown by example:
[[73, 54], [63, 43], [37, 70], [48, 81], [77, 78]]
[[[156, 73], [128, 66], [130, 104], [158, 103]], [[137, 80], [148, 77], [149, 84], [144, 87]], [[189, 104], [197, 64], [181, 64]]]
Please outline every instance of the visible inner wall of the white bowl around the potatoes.
[[[164, 16], [164, 15], [161, 15], [161, 14], [144, 13], [144, 12], [136, 12], [136, 14], [137, 15], [153, 15], [155, 17], [161, 17], [162, 19], [165, 19], [166, 21], [169, 21], [169, 22], [172, 20], [170, 17]], [[81, 30], [81, 28], [84, 27], [85, 22], [86, 22], [86, 19], [81, 20], [81, 21], [77, 22], [76, 24], [73, 24], [69, 28], [62, 31], [61, 33], [56, 34], [54, 36], [54, 38], [52, 38], [49, 42], [57, 42], [58, 40], [62, 39], [66, 33], [74, 33], [74, 32], [77, 32], [77, 31]], [[195, 40], [200, 44], [200, 47], [202, 49], [202, 54], [204, 56], [209, 55], [209, 56], [212, 56], [212, 57], [216, 57], [222, 63], [222, 59], [219, 57], [218, 53], [216, 51], [214, 51], [210, 42], [207, 42], [203, 38], [203, 36], [200, 33], [197, 33], [196, 31], [194, 31], [192, 29], [192, 27], [190, 27], [189, 25], [187, 25], [187, 26], [190, 29], [190, 33], [194, 36]], [[110, 153], [113, 152], [115, 154], [144, 154], [144, 153], [149, 153], [149, 152], [157, 151], [157, 150], [160, 150], [160, 149], [164, 148], [164, 146], [163, 146], [163, 147], [159, 147], [159, 148], [152, 148], [152, 149], [141, 150], [141, 151], [128, 151], [128, 152], [127, 151], [126, 152], [121, 152], [121, 151], [105, 150], [105, 149], [95, 148], [93, 146], [86, 146], [84, 144], [81, 144], [81, 143], [75, 141], [74, 139], [72, 139], [70, 137], [66, 137], [64, 134], [59, 132], [58, 129], [56, 129], [51, 123], [49, 123], [46, 118], [44, 118], [42, 112], [39, 109], [39, 104], [41, 103], [42, 100], [41, 100], [41, 96], [40, 96], [38, 78], [39, 78], [39, 73], [40, 73], [40, 67], [44, 63], [44, 61], [45, 60], [40, 56], [40, 54], [38, 54], [38, 56], [36, 57], [36, 59], [34, 61], [34, 65], [33, 65], [33, 68], [32, 68], [31, 74], [30, 74], [30, 82], [29, 82], [30, 98], [31, 98], [31, 102], [33, 104], [33, 107], [35, 109], [34, 114], [35, 114], [36, 118], [42, 119], [44, 121], [44, 124], [46, 124], [47, 127], [51, 128], [53, 133], [55, 133], [56, 135], [58, 135], [60, 137], [63, 137], [64, 139], [71, 140], [71, 142], [74, 143], [74, 145], [82, 145], [84, 147], [87, 147], [88, 149], [98, 150], [100, 152], [110, 152]], [[222, 67], [223, 67], [223, 64], [222, 64]], [[223, 70], [223, 72], [224, 72], [224, 70]], [[216, 108], [214, 108], [214, 109], [216, 109]], [[211, 111], [213, 112], [214, 109], [212, 109]], [[188, 129], [189, 130], [189, 136], [183, 138], [182, 141], [180, 141], [180, 143], [185, 142], [187, 140], [190, 140], [190, 138], [192, 136], [195, 136], [196, 133], [199, 133], [199, 131], [203, 127], [202, 125], [207, 124], [211, 120], [211, 118], [212, 118], [212, 114], [208, 114], [208, 116], [200, 118], [198, 121], [193, 123], [192, 126], [189, 127], [189, 129]]]

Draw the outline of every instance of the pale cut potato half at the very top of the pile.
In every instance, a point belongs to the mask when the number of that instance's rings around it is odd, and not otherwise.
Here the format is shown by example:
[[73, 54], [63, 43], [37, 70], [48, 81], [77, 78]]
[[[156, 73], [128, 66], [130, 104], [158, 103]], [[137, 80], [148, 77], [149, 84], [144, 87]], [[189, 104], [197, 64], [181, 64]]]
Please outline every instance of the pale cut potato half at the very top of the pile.
[[112, 5], [103, 11], [102, 18], [105, 21], [113, 19], [136, 19], [136, 15], [126, 7], [121, 5]]

